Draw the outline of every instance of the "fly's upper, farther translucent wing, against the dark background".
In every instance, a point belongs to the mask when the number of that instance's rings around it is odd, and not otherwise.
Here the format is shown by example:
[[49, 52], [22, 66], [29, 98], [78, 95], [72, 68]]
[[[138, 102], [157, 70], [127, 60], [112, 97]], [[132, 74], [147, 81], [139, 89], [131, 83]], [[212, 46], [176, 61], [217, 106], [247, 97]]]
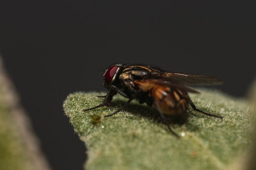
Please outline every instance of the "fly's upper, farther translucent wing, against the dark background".
[[220, 85], [223, 83], [222, 80], [216, 77], [199, 74], [163, 72], [161, 77], [166, 81], [186, 85], [207, 86]]

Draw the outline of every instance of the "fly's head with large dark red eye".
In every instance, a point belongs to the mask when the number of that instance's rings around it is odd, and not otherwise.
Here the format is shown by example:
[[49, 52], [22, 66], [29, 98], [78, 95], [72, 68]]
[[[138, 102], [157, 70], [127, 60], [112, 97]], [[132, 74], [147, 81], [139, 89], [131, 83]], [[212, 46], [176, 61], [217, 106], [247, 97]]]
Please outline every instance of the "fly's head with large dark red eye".
[[119, 84], [118, 77], [125, 67], [124, 64], [112, 64], [103, 74], [103, 77], [105, 77], [103, 85], [108, 89], [112, 85]]

